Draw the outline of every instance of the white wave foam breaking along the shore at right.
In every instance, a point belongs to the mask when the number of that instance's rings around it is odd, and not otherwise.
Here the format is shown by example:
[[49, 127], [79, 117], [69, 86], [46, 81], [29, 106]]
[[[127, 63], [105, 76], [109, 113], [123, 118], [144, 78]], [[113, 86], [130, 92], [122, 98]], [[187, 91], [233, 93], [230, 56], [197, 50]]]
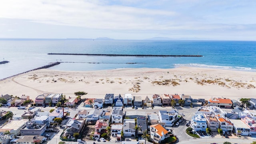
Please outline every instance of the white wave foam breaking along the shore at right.
[[233, 67], [233, 66], [215, 66], [215, 65], [206, 65], [206, 64], [174, 64], [174, 68], [178, 67], [196, 67], [196, 68], [215, 68], [223, 70], [241, 70], [241, 71], [250, 71], [256, 72], [256, 69], [246, 68], [246, 67]]

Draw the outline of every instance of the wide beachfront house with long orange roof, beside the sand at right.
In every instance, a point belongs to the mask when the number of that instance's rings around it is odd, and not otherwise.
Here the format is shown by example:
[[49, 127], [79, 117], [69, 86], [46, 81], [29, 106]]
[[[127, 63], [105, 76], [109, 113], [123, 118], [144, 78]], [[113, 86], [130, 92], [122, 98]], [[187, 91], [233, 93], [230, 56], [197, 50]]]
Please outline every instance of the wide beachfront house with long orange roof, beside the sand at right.
[[222, 108], [232, 108], [232, 101], [228, 98], [210, 98], [209, 106], [218, 106]]

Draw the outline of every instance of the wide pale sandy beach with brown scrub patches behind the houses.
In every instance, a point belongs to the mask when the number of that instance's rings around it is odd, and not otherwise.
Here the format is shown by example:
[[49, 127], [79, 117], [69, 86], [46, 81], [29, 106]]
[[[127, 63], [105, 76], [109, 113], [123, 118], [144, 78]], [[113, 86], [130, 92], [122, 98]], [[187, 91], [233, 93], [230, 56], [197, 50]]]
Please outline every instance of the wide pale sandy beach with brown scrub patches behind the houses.
[[0, 81], [0, 94], [36, 96], [44, 93], [88, 92], [87, 98], [104, 98], [106, 93], [133, 96], [185, 94], [192, 98], [253, 98], [256, 73], [209, 68], [180, 67], [121, 68], [96, 71], [56, 71], [41, 69]]

